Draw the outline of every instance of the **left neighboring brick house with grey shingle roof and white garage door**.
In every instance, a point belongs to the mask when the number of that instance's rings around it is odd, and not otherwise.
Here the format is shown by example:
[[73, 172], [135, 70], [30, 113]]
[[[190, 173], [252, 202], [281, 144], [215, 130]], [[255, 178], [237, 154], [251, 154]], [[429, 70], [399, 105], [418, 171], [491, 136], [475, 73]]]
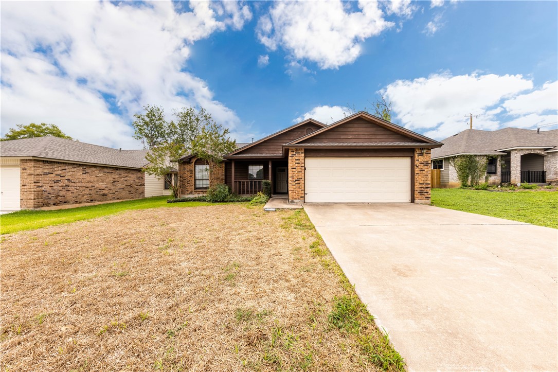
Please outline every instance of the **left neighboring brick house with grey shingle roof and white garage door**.
[[[0, 211], [170, 195], [165, 180], [143, 173], [147, 151], [111, 149], [52, 136], [2, 141]], [[173, 180], [177, 179], [174, 174]]]

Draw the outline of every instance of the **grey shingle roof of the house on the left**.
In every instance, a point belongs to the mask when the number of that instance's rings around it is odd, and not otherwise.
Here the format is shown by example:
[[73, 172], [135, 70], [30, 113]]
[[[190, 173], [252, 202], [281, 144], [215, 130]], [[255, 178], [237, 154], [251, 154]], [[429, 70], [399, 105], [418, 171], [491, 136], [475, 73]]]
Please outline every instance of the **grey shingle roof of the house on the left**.
[[119, 150], [59, 137], [35, 137], [0, 142], [0, 156], [75, 161], [125, 168], [142, 168], [149, 150]]

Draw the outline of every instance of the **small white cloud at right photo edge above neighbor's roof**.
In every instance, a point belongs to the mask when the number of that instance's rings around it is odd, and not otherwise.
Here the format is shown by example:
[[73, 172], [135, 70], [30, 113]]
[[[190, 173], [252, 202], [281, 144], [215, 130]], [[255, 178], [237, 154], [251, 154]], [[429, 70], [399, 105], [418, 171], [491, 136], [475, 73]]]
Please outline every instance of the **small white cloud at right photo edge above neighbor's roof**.
[[502, 105], [511, 115], [527, 115], [545, 111], [558, 111], [558, 80], [548, 82], [531, 93], [508, 99]]

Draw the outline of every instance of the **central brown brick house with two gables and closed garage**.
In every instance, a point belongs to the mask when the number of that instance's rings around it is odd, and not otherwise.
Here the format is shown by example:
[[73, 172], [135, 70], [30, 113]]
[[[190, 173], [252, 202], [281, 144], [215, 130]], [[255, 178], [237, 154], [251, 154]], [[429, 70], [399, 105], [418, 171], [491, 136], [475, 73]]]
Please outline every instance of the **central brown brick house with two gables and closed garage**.
[[[257, 193], [267, 179], [293, 201], [430, 203], [430, 151], [440, 146], [365, 112], [328, 126], [308, 119], [239, 146], [214, 178], [238, 194]], [[179, 178], [183, 195], [209, 187], [193, 155], [180, 159]]]

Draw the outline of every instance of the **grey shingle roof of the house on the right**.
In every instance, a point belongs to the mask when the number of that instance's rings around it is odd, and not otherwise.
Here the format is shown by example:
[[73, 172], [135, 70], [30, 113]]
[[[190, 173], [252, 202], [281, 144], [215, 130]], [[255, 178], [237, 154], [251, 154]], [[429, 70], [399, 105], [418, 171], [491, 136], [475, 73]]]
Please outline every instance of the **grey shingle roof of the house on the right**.
[[444, 146], [432, 150], [432, 159], [460, 154], [498, 155], [511, 149], [555, 148], [558, 130], [541, 131], [503, 128], [497, 131], [467, 129], [442, 140]]

